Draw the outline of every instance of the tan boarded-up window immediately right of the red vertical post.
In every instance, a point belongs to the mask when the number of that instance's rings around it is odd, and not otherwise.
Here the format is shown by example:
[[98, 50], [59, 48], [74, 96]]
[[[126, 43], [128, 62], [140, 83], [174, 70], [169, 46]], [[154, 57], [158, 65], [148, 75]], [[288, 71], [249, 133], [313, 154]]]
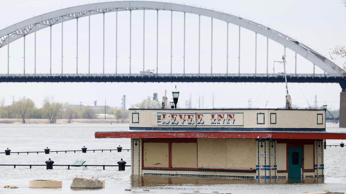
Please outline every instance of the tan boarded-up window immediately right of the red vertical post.
[[197, 143], [172, 143], [172, 168], [197, 168]]

